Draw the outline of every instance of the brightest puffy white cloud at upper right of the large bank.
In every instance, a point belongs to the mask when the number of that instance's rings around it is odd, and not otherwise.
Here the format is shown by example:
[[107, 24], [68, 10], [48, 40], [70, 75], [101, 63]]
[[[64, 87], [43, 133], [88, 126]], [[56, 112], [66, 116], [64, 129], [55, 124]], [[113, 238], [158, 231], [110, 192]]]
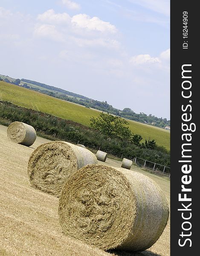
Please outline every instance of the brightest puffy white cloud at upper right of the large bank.
[[100, 32], [111, 32], [116, 33], [116, 26], [110, 24], [110, 22], [106, 22], [100, 20], [99, 17], [91, 18], [86, 14], [78, 14], [72, 17], [72, 23], [79, 28], [87, 28], [89, 30], [97, 30]]

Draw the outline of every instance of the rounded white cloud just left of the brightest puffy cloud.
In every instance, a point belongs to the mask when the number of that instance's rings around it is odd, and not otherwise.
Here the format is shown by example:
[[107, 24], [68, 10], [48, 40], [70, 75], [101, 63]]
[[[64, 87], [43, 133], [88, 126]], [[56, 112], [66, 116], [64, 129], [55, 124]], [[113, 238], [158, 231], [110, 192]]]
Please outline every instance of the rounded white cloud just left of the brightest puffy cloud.
[[66, 12], [56, 14], [53, 9], [50, 9], [42, 14], [39, 14], [37, 20], [44, 23], [66, 24], [70, 22], [70, 15], [68, 15]]

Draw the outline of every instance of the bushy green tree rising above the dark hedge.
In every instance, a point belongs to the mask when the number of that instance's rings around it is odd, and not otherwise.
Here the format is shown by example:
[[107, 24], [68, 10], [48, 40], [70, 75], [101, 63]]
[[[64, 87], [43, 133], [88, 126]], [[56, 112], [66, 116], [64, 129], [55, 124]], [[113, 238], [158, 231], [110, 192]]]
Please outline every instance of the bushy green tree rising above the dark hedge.
[[113, 116], [109, 113], [102, 112], [99, 117], [92, 117], [90, 121], [92, 128], [111, 138], [120, 138], [122, 140], [130, 141], [133, 135], [127, 127], [129, 123], [119, 116]]

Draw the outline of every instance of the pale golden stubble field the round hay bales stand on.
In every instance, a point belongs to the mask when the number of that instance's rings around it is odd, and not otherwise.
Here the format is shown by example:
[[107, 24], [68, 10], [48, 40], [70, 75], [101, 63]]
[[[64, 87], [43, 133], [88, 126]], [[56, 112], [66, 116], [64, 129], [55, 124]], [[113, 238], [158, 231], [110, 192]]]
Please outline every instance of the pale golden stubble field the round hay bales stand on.
[[[141, 253], [108, 253], [64, 236], [58, 224], [58, 198], [33, 189], [27, 175], [30, 154], [48, 140], [37, 137], [31, 147], [26, 147], [10, 142], [6, 129], [0, 125], [0, 255], [169, 256], [169, 221], [158, 241]], [[119, 167], [121, 162], [107, 159], [104, 164]], [[168, 180], [135, 166], [131, 169], [154, 179], [170, 203]]]

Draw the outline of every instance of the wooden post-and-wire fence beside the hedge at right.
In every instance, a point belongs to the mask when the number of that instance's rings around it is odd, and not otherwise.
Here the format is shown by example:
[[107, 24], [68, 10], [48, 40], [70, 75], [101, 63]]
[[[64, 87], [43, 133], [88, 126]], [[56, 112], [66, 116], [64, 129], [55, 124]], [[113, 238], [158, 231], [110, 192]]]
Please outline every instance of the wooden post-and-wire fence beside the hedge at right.
[[151, 173], [156, 175], [164, 175], [170, 178], [170, 167], [168, 166], [163, 166], [159, 163], [154, 163], [139, 157], [134, 157], [132, 161], [141, 168], [151, 170]]

